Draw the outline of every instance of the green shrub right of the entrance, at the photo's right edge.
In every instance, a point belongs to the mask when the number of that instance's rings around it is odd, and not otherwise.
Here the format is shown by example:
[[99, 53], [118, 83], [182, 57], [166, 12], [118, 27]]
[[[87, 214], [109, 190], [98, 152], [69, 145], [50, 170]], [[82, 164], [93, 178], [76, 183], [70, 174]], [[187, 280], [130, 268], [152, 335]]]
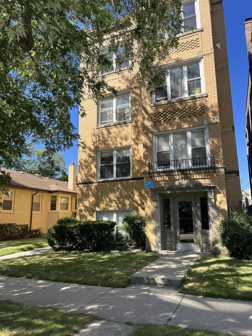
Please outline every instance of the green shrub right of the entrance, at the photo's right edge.
[[231, 211], [217, 226], [218, 237], [230, 256], [252, 260], [252, 218], [244, 211]]

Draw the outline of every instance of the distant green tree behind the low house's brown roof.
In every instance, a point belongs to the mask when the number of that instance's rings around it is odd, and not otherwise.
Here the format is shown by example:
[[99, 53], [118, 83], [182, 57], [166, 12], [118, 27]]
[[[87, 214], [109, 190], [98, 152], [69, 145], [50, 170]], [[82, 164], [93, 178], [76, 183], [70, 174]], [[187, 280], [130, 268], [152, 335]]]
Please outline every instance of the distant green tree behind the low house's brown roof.
[[[22, 159], [12, 163], [12, 168], [24, 171], [28, 174], [39, 174], [41, 176], [60, 179], [66, 177], [67, 167], [64, 156], [61, 153], [54, 153], [50, 158], [44, 149], [39, 149], [31, 145], [29, 152]], [[9, 168], [5, 166], [5, 168]], [[63, 178], [62, 180], [65, 181]]]

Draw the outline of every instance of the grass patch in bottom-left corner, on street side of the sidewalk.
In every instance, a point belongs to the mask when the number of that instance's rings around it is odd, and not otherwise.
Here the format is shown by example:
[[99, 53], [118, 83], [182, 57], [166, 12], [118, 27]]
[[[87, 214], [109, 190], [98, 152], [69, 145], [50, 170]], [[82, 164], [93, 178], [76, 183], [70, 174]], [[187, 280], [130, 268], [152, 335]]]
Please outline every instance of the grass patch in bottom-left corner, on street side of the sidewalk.
[[70, 336], [96, 318], [51, 307], [23, 307], [10, 300], [0, 301], [0, 336]]

